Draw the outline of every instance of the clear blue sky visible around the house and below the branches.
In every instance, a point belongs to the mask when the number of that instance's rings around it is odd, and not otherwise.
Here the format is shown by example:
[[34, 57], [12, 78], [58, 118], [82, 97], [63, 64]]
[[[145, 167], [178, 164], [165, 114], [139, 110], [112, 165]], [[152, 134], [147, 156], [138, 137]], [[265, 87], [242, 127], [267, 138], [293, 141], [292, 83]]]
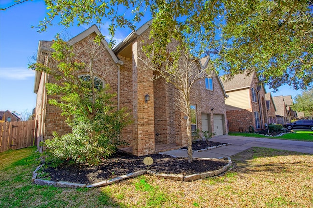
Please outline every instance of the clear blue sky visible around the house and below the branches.
[[[0, 0], [1, 8], [12, 4], [13, 1]], [[43, 0], [33, 0], [14, 6], [6, 11], [0, 11], [0, 110], [16, 111], [27, 110], [31, 112], [36, 105], [34, 93], [35, 73], [27, 68], [31, 58], [36, 55], [39, 40], [52, 40], [57, 33], [63, 31], [73, 37], [87, 29], [89, 26], [73, 26], [64, 31], [58, 25], [50, 26], [47, 32], [38, 33], [36, 28], [43, 20], [47, 10]], [[139, 25], [140, 26], [140, 25]], [[101, 32], [107, 35], [106, 27]], [[120, 42], [130, 33], [123, 29], [116, 32], [116, 42]], [[271, 90], [266, 87], [267, 92]], [[301, 94], [290, 86], [283, 86], [277, 95]]]

